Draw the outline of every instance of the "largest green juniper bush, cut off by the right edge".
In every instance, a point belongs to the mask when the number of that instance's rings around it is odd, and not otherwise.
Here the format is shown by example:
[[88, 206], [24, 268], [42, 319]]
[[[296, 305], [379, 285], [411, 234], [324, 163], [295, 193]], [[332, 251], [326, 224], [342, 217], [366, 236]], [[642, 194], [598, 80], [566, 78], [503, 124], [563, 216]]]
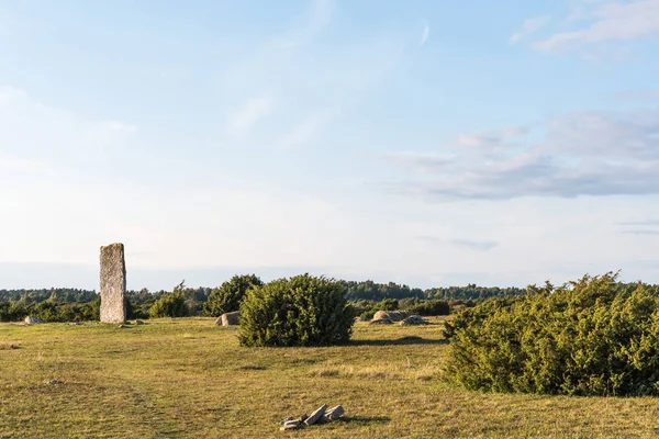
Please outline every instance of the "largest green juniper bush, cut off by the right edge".
[[584, 277], [459, 313], [447, 378], [467, 389], [659, 395], [659, 288]]

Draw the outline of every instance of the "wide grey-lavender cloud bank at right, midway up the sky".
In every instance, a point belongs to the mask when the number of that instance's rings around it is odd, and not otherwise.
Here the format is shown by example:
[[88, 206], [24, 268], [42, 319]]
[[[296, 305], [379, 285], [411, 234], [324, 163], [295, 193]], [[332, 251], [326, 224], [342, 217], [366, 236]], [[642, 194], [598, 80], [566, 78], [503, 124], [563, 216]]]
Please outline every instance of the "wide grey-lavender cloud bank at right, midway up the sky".
[[433, 201], [659, 194], [657, 111], [572, 113], [460, 135], [443, 149], [453, 153], [449, 164], [399, 155], [411, 169], [383, 188]]

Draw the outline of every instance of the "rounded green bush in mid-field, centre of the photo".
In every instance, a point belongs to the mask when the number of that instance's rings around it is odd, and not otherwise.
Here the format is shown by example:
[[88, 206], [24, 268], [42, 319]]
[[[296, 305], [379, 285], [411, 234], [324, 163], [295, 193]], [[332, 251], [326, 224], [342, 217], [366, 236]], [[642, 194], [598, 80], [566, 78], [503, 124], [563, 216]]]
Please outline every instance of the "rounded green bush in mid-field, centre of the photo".
[[302, 274], [247, 292], [238, 339], [243, 346], [339, 345], [349, 340], [353, 322], [340, 282]]

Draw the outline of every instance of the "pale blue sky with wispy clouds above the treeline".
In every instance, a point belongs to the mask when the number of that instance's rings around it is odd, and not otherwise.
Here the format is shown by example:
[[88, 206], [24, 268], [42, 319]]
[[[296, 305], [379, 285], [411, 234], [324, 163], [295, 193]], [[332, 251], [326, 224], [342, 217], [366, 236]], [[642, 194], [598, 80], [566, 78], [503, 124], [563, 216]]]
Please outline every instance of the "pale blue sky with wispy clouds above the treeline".
[[0, 0], [0, 288], [659, 283], [659, 0]]

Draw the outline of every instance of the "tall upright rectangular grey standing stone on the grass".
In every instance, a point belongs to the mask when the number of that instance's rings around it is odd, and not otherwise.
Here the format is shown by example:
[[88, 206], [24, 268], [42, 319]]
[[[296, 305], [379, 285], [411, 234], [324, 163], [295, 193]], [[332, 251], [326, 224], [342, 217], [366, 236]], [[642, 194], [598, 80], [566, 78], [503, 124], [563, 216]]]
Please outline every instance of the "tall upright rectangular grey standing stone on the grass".
[[126, 264], [123, 244], [101, 247], [101, 322], [126, 320]]

